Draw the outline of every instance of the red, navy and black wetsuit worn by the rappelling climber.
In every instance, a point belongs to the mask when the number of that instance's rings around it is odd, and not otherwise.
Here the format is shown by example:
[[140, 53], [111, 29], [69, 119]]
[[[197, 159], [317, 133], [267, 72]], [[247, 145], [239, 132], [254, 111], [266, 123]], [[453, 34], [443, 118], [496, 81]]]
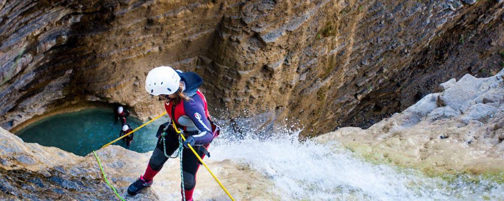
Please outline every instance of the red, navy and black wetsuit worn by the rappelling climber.
[[[174, 120], [177, 129], [183, 130], [185, 138], [193, 136], [195, 139], [193, 148], [203, 158], [205, 157], [204, 151], [206, 149], [201, 149], [200, 146], [208, 148], [214, 138], [214, 133], [212, 132], [214, 129], [212, 128], [215, 128], [212, 127], [210, 122], [205, 96], [198, 90], [199, 86], [203, 83], [203, 79], [194, 72], [179, 73], [179, 75], [181, 81], [185, 82], [186, 86], [183, 92], [187, 96], [190, 96], [191, 99], [181, 100], [177, 105], [171, 102], [164, 103], [164, 106], [168, 115]], [[166, 146], [163, 145], [162, 137], [159, 137], [156, 148], [149, 160], [149, 165], [143, 175], [143, 178], [146, 180], [151, 180], [161, 170], [166, 160], [168, 160], [164, 152], [166, 151], [166, 154], [169, 156], [179, 147], [178, 134], [171, 124], [166, 129], [166, 133], [167, 135], [164, 136]], [[191, 200], [193, 196], [194, 186], [196, 185], [196, 172], [199, 167], [198, 158], [191, 149], [184, 147], [182, 150], [182, 173], [183, 190], [186, 200]]]

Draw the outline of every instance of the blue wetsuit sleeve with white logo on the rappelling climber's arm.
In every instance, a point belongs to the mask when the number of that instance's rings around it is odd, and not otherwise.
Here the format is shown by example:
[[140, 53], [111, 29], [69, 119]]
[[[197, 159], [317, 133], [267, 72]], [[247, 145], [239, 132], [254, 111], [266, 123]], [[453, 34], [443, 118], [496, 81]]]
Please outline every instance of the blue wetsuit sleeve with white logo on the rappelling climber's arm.
[[212, 126], [208, 120], [203, 99], [199, 95], [194, 95], [188, 102], [184, 103], [184, 112], [196, 125], [200, 132], [194, 137], [194, 145], [205, 145], [212, 142]]

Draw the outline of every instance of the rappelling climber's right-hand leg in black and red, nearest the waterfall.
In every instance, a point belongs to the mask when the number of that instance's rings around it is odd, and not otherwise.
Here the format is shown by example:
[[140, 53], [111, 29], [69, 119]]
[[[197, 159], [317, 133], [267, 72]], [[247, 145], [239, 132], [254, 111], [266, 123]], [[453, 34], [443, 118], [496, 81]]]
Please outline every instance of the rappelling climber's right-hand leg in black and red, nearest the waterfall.
[[[205, 146], [206, 148], [208, 147]], [[198, 155], [203, 159], [205, 154], [200, 151], [200, 146], [193, 147]], [[188, 148], [184, 148], [182, 151], [182, 174], [183, 174], [183, 184], [185, 200], [192, 200], [194, 187], [196, 186], [196, 173], [200, 168], [200, 162], [198, 158], [194, 155], [193, 151]], [[182, 192], [180, 192], [182, 193]]]

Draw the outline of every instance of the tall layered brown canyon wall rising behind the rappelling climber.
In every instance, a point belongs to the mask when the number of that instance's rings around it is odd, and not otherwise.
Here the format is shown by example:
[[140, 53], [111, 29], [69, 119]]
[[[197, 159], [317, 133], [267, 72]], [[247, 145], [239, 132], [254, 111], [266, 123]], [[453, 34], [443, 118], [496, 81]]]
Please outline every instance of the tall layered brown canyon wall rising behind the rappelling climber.
[[503, 62], [498, 1], [15, 1], [0, 3], [0, 126], [120, 103], [147, 119], [159, 65], [205, 79], [214, 116], [369, 126], [440, 82]]

